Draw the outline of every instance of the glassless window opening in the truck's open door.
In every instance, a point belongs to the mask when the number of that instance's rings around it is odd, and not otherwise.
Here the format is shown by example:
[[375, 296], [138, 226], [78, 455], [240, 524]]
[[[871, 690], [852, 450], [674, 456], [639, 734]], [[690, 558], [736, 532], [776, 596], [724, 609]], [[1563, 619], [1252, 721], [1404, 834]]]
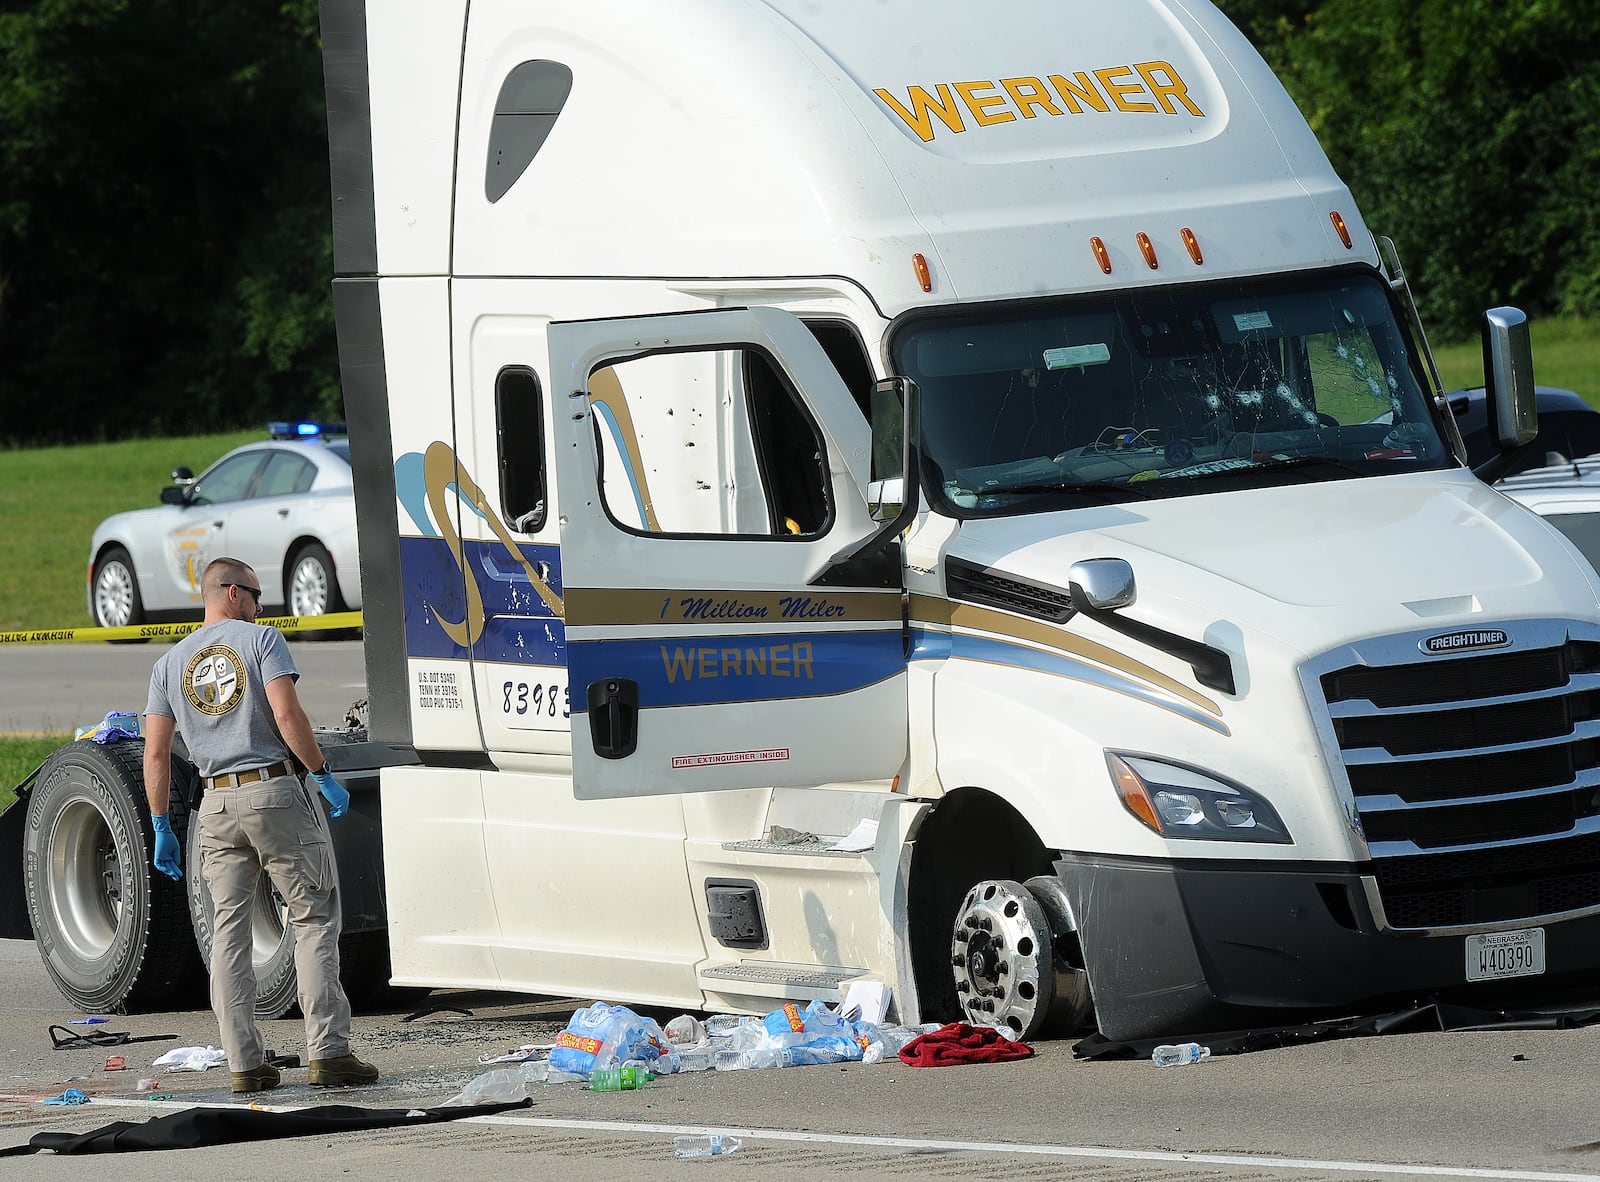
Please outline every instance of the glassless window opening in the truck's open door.
[[[616, 361], [590, 376], [589, 400], [600, 491], [619, 528], [728, 537], [827, 529], [822, 437], [789, 379], [758, 350]], [[661, 489], [670, 494], [658, 496]]]

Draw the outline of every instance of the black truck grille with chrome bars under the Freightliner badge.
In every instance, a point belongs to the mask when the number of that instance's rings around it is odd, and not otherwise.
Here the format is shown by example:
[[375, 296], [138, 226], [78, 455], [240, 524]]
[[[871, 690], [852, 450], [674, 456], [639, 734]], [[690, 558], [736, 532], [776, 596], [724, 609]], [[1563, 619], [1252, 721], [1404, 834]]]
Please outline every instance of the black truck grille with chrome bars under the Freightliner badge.
[[1600, 645], [1322, 677], [1395, 928], [1600, 907]]

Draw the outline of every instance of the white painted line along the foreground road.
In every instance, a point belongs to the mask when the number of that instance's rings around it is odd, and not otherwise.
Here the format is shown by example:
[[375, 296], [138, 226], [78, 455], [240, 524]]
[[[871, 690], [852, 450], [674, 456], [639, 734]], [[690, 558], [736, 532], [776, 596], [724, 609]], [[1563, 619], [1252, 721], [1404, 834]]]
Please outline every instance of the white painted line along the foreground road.
[[[139, 1100], [94, 1097], [94, 1105], [139, 1108], [267, 1108], [299, 1112], [315, 1105], [302, 1104], [179, 1104], [176, 1100]], [[392, 1105], [400, 1107], [400, 1105]], [[555, 1120], [549, 1116], [466, 1116], [458, 1124], [510, 1124], [566, 1132], [656, 1132], [669, 1137], [696, 1132], [723, 1132], [749, 1140], [797, 1140], [816, 1145], [859, 1145], [862, 1148], [942, 1150], [947, 1153], [1016, 1153], [1040, 1158], [1099, 1158], [1104, 1161], [1162, 1161], [1187, 1166], [1251, 1166], [1254, 1169], [1320, 1169], [1344, 1174], [1395, 1174], [1400, 1177], [1482, 1177], [1504, 1182], [1600, 1182], [1600, 1174], [1560, 1174], [1542, 1169], [1483, 1169], [1477, 1166], [1416, 1166], [1394, 1161], [1338, 1161], [1318, 1158], [1277, 1158], [1253, 1153], [1171, 1153], [1165, 1150], [1098, 1148], [1093, 1145], [1034, 1145], [1013, 1140], [941, 1140], [933, 1137], [867, 1137], [850, 1132], [792, 1132], [789, 1129], [741, 1129], [725, 1124], [642, 1124], [635, 1121]], [[400, 1126], [403, 1128], [403, 1126]], [[437, 1128], [437, 1126], [429, 1126]]]

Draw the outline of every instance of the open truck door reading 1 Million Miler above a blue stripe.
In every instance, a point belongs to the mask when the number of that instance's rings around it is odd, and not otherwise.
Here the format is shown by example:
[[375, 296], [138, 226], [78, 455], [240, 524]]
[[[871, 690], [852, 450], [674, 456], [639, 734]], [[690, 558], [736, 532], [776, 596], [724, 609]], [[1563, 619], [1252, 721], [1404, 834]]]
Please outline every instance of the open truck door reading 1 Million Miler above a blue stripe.
[[899, 565], [842, 577], [878, 529], [870, 427], [805, 325], [557, 323], [549, 349], [576, 795], [894, 776]]

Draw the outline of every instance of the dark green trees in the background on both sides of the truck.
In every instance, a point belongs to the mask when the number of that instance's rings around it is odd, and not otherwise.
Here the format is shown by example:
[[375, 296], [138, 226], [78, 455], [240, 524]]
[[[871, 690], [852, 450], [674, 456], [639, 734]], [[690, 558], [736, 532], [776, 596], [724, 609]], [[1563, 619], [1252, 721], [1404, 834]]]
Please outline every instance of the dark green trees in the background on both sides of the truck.
[[[1600, 315], [1600, 5], [1221, 0], [1435, 339]], [[315, 0], [0, 0], [0, 445], [341, 417]]]

